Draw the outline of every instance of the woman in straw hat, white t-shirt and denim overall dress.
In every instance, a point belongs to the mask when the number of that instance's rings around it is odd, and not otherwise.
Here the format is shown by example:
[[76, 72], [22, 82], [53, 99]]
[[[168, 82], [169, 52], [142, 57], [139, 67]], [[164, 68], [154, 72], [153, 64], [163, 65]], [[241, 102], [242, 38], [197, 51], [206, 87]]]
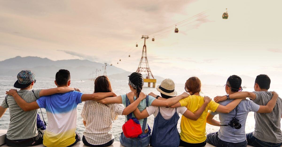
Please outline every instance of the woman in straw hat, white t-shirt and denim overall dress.
[[[159, 99], [168, 99], [177, 96], [175, 84], [171, 79], [163, 80], [162, 83], [157, 86], [157, 91], [160, 92], [161, 97], [155, 95], [153, 92], [151, 92], [149, 95]], [[134, 111], [134, 115], [137, 119], [147, 118], [152, 114], [155, 116], [154, 128], [151, 134], [151, 146], [177, 147], [180, 143], [180, 135], [177, 130], [177, 123], [180, 118], [179, 113], [189, 119], [196, 121], [202, 115], [210, 101], [211, 99], [205, 96], [204, 104], [199, 110], [197, 110], [197, 112], [195, 112], [195, 114], [190, 110], [187, 110], [187, 108], [184, 106], [177, 108], [149, 106], [142, 112], [140, 112], [139, 109], [136, 109]]]

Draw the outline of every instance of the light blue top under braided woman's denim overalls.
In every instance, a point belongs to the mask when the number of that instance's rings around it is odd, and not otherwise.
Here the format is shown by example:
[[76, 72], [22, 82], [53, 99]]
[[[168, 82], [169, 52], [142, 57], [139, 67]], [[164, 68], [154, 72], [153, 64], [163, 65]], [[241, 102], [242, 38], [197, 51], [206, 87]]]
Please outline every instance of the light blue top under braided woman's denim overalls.
[[[122, 96], [122, 104], [124, 105], [124, 107], [126, 107], [125, 104], [125, 99], [126, 99], [126, 94], [122, 94], [120, 95]], [[149, 96], [149, 106], [152, 104], [152, 102], [155, 100], [156, 98], [154, 98], [153, 96]], [[134, 101], [136, 100], [136, 97], [134, 96]], [[144, 109], [146, 109], [146, 99], [143, 99], [140, 104], [137, 106], [137, 108], [140, 110], [140, 112], [142, 112]], [[135, 115], [132, 113], [132, 117], [135, 117]], [[125, 122], [127, 121], [127, 117], [125, 116]], [[139, 123], [141, 126], [143, 126], [143, 121], [144, 119], [140, 119]], [[146, 129], [148, 128], [148, 126], [146, 125]]]

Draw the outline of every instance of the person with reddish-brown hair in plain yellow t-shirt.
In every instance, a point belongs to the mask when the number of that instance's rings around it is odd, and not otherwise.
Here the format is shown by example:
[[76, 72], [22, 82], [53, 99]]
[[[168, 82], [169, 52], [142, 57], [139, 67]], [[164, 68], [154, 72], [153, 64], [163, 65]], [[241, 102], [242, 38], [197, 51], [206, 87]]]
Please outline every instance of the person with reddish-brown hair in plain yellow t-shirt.
[[[185, 91], [190, 93], [187, 98], [181, 99], [171, 108], [185, 106], [188, 110], [195, 113], [204, 103], [204, 97], [200, 96], [201, 80], [198, 77], [191, 77], [185, 83]], [[206, 116], [208, 110], [212, 112], [229, 113], [242, 99], [232, 101], [226, 106], [219, 105], [215, 101], [210, 101], [203, 114], [197, 121], [181, 117], [180, 122], [180, 146], [201, 147], [206, 145]]]

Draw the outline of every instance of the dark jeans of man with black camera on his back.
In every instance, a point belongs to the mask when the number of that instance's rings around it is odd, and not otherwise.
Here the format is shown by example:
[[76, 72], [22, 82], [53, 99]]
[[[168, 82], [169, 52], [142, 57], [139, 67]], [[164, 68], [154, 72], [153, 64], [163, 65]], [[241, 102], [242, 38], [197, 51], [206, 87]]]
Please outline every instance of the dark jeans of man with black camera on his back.
[[210, 133], [207, 135], [207, 143], [217, 146], [217, 147], [246, 147], [247, 146], [247, 140], [241, 142], [241, 143], [230, 143], [226, 141], [222, 141], [218, 138], [218, 134], [216, 133]]

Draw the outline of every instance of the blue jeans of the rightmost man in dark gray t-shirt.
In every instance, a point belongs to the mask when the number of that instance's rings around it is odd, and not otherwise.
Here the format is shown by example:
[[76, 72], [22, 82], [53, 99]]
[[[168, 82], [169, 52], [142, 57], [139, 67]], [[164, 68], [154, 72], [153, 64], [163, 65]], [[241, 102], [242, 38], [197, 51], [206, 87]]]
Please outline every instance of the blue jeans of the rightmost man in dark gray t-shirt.
[[282, 143], [268, 143], [265, 141], [261, 141], [253, 136], [253, 132], [247, 133], [248, 145], [255, 147], [280, 147]]

